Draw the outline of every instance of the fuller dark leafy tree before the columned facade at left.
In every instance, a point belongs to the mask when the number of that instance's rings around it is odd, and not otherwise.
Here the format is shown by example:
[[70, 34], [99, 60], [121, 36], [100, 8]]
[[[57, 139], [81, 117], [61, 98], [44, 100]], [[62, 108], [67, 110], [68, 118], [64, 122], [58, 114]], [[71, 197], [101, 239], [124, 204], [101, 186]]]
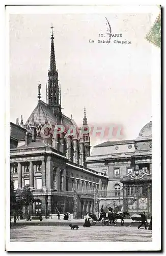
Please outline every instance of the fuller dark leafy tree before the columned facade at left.
[[25, 214], [27, 218], [27, 207], [32, 205], [35, 201], [30, 185], [25, 185], [22, 190], [18, 190], [16, 201], [19, 207], [25, 207]]

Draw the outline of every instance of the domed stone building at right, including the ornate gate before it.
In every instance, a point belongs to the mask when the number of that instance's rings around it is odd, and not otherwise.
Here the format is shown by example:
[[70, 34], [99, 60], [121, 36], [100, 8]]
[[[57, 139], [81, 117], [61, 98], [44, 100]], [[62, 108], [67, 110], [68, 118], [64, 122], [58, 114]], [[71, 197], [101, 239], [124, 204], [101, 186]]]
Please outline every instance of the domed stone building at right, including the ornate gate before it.
[[94, 146], [86, 164], [108, 177], [107, 192], [99, 193], [100, 206], [151, 213], [152, 122], [141, 129], [135, 140]]

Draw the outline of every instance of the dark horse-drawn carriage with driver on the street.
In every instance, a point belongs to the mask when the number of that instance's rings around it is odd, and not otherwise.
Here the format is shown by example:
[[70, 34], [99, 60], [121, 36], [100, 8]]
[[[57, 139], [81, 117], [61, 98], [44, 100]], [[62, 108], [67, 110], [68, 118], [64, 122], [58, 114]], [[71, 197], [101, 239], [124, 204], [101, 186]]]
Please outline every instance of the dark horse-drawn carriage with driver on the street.
[[91, 222], [91, 225], [95, 225], [97, 222], [101, 221], [106, 226], [108, 226], [112, 223], [116, 224], [118, 219], [121, 220], [121, 226], [122, 226], [124, 224], [124, 218], [126, 216], [130, 216], [128, 211], [124, 211], [124, 212], [120, 212], [120, 213], [112, 212], [112, 213], [108, 214], [108, 217], [106, 217], [106, 214], [104, 212], [104, 214], [100, 215], [99, 219], [97, 219], [97, 216], [95, 214], [91, 214], [90, 212], [88, 214], [90, 216], [89, 220]]

